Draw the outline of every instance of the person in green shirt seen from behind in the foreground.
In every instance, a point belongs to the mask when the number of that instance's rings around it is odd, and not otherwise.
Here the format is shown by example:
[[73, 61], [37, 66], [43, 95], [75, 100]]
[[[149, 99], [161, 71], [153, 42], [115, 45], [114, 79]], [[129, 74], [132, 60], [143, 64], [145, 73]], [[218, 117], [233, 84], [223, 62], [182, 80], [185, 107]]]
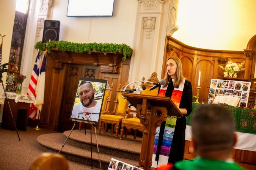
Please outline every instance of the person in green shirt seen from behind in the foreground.
[[230, 111], [220, 105], [200, 105], [192, 115], [194, 161], [179, 161], [156, 170], [243, 170], [232, 160], [237, 142]]

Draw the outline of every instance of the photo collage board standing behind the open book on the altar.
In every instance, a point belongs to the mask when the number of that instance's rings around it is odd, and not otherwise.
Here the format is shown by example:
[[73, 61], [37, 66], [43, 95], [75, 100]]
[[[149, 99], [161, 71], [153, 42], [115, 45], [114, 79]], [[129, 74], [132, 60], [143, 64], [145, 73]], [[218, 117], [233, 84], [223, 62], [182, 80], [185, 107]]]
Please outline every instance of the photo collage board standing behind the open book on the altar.
[[218, 95], [240, 97], [239, 107], [247, 107], [251, 82], [239, 80], [212, 79], [208, 95], [208, 104], [211, 104]]

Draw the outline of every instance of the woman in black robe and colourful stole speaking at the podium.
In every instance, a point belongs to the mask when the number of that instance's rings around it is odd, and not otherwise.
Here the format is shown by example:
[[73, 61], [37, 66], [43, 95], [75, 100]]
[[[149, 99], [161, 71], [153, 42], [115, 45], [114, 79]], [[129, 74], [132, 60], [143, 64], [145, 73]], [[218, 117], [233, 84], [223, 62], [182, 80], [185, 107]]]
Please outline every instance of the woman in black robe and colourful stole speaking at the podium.
[[[182, 75], [182, 63], [178, 57], [170, 57], [166, 62], [166, 83], [159, 88], [158, 96], [171, 97], [183, 117], [167, 117], [157, 128], [159, 138], [155, 138], [157, 150], [155, 161], [160, 164], [175, 163], [183, 159], [185, 147], [186, 116], [192, 111], [192, 85]], [[162, 146], [161, 146], [162, 145]], [[169, 146], [168, 146], [169, 145]], [[169, 149], [168, 149], [169, 147]], [[168, 154], [167, 152], [170, 153]], [[160, 155], [159, 155], [160, 154]], [[168, 156], [169, 155], [169, 156]], [[154, 157], [153, 157], [154, 158]], [[166, 159], [166, 160], [161, 160]], [[167, 161], [168, 162], [165, 162]]]

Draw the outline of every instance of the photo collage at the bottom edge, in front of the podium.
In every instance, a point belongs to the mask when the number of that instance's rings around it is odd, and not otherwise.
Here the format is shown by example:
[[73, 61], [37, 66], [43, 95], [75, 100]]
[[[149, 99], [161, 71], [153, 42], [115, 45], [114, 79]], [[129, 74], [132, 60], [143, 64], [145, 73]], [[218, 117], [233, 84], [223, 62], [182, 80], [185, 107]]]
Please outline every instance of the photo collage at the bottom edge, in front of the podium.
[[133, 165], [126, 164], [122, 161], [112, 158], [108, 166], [108, 170], [143, 170]]

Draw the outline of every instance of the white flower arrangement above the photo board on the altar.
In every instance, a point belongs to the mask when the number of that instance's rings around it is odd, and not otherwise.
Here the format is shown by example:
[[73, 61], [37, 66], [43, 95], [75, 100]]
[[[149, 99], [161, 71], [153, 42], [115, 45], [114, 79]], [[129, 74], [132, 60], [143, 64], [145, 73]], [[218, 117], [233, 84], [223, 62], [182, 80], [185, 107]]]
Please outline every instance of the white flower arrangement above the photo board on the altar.
[[228, 64], [223, 67], [221, 65], [219, 65], [220, 68], [222, 68], [224, 70], [224, 77], [237, 77], [237, 73], [244, 71], [245, 68], [243, 67], [243, 64], [245, 63], [245, 61], [243, 61], [241, 64], [237, 65], [237, 63], [233, 63], [232, 60], [228, 61]]

